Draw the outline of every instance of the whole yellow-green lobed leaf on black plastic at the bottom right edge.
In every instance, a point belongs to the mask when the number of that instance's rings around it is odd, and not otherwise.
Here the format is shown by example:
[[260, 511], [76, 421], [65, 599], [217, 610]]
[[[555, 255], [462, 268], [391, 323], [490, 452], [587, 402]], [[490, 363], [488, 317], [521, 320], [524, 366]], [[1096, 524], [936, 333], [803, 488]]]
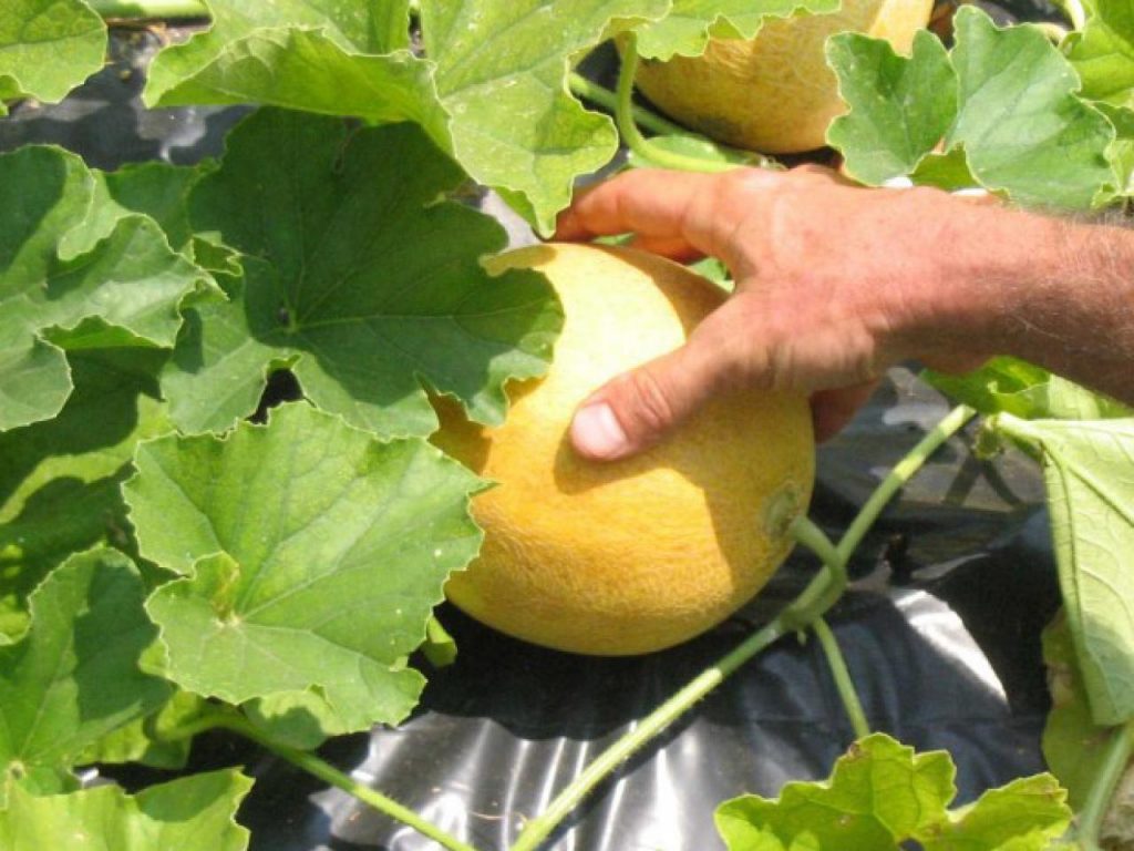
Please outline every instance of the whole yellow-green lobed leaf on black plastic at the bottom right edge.
[[874, 733], [838, 759], [831, 776], [793, 782], [776, 800], [744, 795], [717, 809], [729, 851], [1042, 851], [1070, 821], [1066, 792], [1036, 775], [949, 811], [956, 769], [948, 753], [915, 753]]

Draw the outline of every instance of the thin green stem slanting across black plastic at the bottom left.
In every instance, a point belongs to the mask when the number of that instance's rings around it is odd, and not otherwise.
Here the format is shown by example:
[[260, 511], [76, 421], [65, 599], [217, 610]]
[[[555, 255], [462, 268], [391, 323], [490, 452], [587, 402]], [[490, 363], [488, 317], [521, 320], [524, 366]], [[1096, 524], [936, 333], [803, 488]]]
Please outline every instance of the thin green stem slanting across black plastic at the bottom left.
[[291, 765], [302, 768], [319, 780], [328, 783], [344, 792], [354, 795], [369, 807], [373, 807], [390, 818], [397, 819], [405, 825], [417, 831], [448, 851], [476, 851], [472, 845], [467, 845], [455, 836], [449, 835], [440, 827], [430, 824], [412, 809], [404, 807], [392, 798], [387, 798], [378, 790], [363, 785], [354, 777], [332, 766], [327, 760], [310, 751], [289, 748], [272, 741], [269, 736], [256, 730], [243, 715], [230, 708], [221, 708], [201, 718], [183, 724], [174, 730], [164, 731], [161, 735], [166, 740], [188, 739], [198, 733], [210, 730], [228, 730], [238, 733], [245, 739], [251, 739], [262, 748], [270, 750], [276, 756], [286, 759]]

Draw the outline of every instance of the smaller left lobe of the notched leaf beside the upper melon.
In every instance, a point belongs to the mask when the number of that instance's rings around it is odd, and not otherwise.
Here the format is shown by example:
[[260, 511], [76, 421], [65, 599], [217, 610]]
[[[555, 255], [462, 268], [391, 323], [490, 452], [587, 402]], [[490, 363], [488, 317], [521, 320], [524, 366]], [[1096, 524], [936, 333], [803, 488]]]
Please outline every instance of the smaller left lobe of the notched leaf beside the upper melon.
[[872, 185], [912, 174], [957, 113], [957, 75], [945, 45], [923, 30], [906, 58], [887, 41], [844, 33], [828, 40], [827, 60], [850, 108], [827, 132], [847, 171]]

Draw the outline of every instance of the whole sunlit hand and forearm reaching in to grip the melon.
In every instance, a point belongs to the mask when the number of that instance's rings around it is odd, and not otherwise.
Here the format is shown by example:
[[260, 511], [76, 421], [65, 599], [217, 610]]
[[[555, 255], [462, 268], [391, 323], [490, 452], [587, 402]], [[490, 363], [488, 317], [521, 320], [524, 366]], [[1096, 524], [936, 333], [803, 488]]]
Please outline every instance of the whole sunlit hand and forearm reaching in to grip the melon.
[[626, 172], [581, 193], [557, 236], [625, 233], [672, 259], [719, 258], [736, 292], [680, 349], [586, 399], [572, 427], [586, 457], [665, 440], [722, 388], [809, 395], [824, 439], [906, 360], [957, 373], [1013, 355], [1134, 404], [1129, 228], [863, 188], [810, 166]]

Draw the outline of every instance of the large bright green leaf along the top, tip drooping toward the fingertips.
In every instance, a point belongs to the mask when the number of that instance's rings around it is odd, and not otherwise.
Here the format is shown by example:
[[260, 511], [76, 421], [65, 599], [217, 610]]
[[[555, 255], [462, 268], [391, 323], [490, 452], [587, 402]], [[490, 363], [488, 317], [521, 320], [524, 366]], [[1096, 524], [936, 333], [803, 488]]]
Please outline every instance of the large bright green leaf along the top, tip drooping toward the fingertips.
[[612, 28], [660, 17], [668, 5], [424, 0], [423, 59], [407, 49], [406, 0], [211, 0], [212, 28], [159, 54], [146, 99], [415, 121], [550, 233], [575, 177], [617, 150], [611, 121], [568, 94], [570, 62]]

